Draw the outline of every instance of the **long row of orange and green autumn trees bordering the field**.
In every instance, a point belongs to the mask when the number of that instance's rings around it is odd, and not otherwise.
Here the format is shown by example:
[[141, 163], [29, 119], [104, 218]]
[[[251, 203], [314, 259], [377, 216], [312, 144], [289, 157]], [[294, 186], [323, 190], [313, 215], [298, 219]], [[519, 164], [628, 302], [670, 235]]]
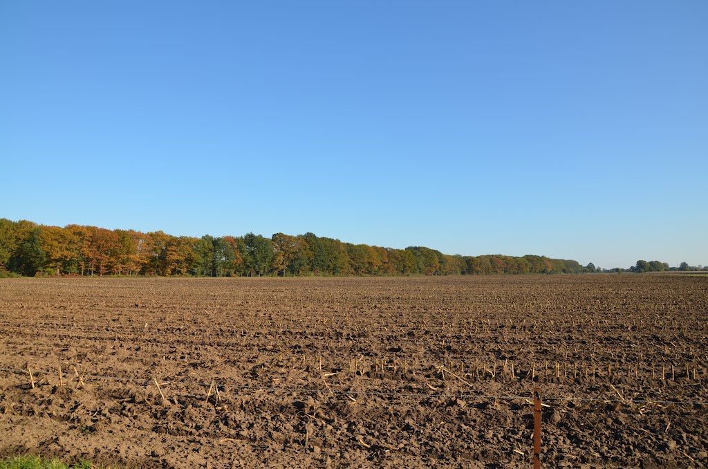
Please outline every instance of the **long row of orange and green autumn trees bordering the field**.
[[2, 271], [24, 276], [447, 276], [595, 268], [545, 256], [450, 256], [427, 247], [350, 244], [312, 233], [197, 238], [0, 218]]

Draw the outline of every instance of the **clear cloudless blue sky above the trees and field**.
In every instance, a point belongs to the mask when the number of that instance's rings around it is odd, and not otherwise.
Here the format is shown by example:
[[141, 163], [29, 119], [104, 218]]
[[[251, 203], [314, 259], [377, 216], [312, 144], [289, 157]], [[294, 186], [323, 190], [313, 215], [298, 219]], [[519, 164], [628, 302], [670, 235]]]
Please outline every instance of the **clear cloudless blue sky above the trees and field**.
[[4, 1], [0, 217], [708, 264], [708, 2]]

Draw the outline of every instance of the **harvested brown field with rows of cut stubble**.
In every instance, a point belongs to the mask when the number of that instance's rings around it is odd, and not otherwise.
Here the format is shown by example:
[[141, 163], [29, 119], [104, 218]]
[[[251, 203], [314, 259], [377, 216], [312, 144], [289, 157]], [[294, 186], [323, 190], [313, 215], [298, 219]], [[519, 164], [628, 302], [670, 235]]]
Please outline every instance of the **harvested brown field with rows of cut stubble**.
[[0, 455], [529, 467], [538, 385], [544, 467], [704, 467], [707, 320], [698, 276], [6, 279]]

